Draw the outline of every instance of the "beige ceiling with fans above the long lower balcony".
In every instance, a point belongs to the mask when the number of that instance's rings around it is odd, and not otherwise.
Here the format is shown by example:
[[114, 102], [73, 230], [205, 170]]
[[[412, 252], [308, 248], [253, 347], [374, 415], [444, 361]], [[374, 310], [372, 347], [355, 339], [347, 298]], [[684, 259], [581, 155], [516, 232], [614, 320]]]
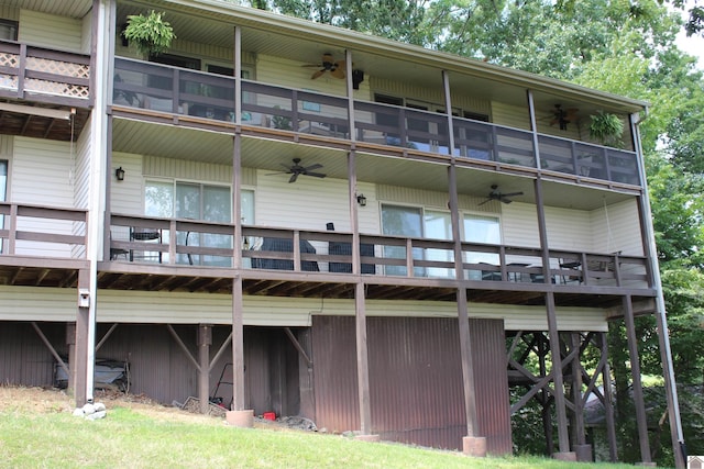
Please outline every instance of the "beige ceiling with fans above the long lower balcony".
[[[230, 166], [233, 135], [116, 119], [112, 150]], [[284, 166], [289, 166], [293, 158], [300, 158], [304, 166], [322, 165], [320, 172], [329, 178], [349, 177], [346, 152], [339, 148], [243, 136], [241, 150], [242, 166], [249, 168], [277, 172], [285, 170]], [[356, 177], [362, 182], [448, 192], [448, 163], [449, 159], [433, 163], [431, 158], [380, 156], [360, 150], [356, 154]], [[492, 185], [496, 185], [504, 193], [524, 192], [512, 198], [515, 202], [536, 201], [534, 177], [474, 167], [459, 167], [457, 175], [460, 194], [484, 198]], [[603, 187], [592, 188], [549, 178], [543, 178], [542, 187], [546, 205], [565, 209], [594, 210], [632, 198], [632, 193], [605, 191]]]

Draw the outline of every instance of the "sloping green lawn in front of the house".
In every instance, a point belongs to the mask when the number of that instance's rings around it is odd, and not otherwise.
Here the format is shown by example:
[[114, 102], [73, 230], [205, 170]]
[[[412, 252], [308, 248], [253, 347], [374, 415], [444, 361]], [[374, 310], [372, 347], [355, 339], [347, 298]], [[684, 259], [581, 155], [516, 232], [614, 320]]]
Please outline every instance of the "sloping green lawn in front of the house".
[[[470, 458], [271, 425], [234, 428], [221, 418], [158, 405], [106, 402], [108, 416], [72, 415], [70, 400], [0, 387], [0, 468], [571, 468], [538, 457]], [[50, 393], [50, 391], [43, 391]], [[36, 395], [40, 395], [37, 399]], [[52, 394], [53, 395], [53, 394]], [[626, 465], [580, 465], [580, 468]]]

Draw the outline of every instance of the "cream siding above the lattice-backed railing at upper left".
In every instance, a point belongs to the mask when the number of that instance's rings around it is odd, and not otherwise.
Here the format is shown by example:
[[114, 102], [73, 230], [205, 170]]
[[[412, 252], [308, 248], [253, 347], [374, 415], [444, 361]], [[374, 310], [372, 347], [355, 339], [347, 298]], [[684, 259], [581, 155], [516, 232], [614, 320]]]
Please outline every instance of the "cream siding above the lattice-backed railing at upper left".
[[80, 20], [38, 11], [20, 11], [20, 42], [54, 49], [82, 52], [81, 32]]

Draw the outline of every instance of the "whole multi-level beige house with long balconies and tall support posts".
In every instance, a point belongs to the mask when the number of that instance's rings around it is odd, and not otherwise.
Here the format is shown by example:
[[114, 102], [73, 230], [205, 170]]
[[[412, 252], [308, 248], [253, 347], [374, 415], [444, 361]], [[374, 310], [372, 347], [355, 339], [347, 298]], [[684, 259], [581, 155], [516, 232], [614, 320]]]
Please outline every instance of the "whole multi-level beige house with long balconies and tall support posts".
[[[144, 57], [121, 31], [152, 9], [177, 37]], [[679, 422], [646, 103], [215, 0], [0, 0], [0, 32], [2, 382], [80, 404], [105, 365], [238, 424], [475, 455], [510, 453], [537, 400], [564, 459], [591, 458], [595, 394], [616, 459], [624, 321], [649, 462], [632, 319], [654, 314]]]

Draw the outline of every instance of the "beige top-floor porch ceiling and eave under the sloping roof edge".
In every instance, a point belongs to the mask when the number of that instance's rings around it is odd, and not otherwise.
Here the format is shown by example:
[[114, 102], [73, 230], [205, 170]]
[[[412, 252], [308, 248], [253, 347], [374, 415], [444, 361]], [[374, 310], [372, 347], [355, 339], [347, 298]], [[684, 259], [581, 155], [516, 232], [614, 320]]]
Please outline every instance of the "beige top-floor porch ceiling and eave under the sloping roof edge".
[[[212, 0], [131, 1], [120, 3], [118, 18], [144, 12], [163, 5], [178, 40], [233, 47], [234, 25], [242, 27], [245, 52], [316, 64], [323, 53], [337, 59], [351, 51], [354, 68], [388, 79], [441, 86], [440, 70], [450, 74], [455, 90], [471, 86], [472, 94], [526, 102], [525, 91], [550, 94], [550, 100], [591, 103], [594, 109], [613, 112], [637, 112], [646, 103], [590, 90], [552, 78], [498, 67], [482, 60], [403, 44], [369, 34], [314, 23], [292, 16], [274, 14]], [[173, 9], [173, 10], [172, 10]], [[119, 21], [120, 23], [120, 21]], [[280, 40], [285, 35], [286, 41]], [[470, 83], [470, 85], [468, 85]], [[466, 91], [466, 90], [465, 90]], [[551, 104], [552, 105], [552, 104]], [[585, 108], [582, 104], [582, 108]]]

